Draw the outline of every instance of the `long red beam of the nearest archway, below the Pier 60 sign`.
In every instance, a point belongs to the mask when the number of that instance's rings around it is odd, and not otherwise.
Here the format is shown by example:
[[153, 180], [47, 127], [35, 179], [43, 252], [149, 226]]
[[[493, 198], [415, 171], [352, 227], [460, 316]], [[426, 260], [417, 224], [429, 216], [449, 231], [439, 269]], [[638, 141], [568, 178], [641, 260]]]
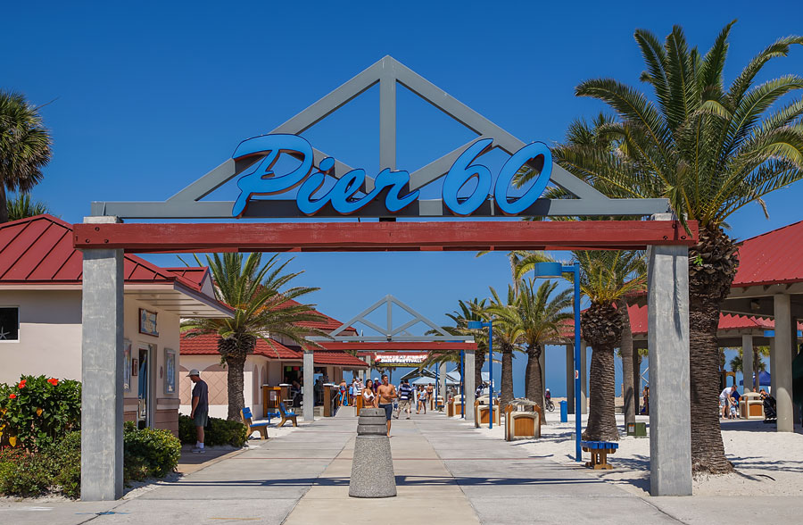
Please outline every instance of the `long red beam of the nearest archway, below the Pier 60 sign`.
[[128, 253], [644, 249], [692, 246], [676, 221], [272, 222], [76, 224], [75, 247]]

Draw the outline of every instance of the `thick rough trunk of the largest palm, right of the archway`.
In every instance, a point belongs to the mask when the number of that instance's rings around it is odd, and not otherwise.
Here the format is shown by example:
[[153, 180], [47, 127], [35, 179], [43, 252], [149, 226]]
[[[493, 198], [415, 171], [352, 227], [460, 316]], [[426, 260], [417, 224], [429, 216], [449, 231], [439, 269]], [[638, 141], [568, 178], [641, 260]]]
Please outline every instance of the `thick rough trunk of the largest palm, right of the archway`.
[[724, 455], [719, 425], [720, 304], [731, 289], [739, 261], [733, 240], [722, 229], [700, 228], [689, 250], [691, 365], [691, 470], [724, 474], [733, 464]]

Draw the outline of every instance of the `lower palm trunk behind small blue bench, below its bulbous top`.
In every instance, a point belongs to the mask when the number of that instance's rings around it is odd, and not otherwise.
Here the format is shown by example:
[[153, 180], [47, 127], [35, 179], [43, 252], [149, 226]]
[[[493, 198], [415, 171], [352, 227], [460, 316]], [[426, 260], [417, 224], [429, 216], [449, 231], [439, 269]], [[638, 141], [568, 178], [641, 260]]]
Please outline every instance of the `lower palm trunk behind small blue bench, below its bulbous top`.
[[592, 346], [592, 364], [589, 371], [588, 424], [584, 439], [617, 441], [616, 369], [613, 346]]

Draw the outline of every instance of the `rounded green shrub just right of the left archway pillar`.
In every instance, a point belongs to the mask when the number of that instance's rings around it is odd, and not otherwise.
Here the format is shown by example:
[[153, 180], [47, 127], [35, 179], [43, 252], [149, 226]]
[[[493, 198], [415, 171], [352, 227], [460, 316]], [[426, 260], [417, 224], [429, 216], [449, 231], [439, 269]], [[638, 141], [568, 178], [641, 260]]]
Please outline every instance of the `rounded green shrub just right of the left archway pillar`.
[[178, 466], [181, 443], [170, 430], [131, 429], [123, 435], [125, 480], [164, 478]]

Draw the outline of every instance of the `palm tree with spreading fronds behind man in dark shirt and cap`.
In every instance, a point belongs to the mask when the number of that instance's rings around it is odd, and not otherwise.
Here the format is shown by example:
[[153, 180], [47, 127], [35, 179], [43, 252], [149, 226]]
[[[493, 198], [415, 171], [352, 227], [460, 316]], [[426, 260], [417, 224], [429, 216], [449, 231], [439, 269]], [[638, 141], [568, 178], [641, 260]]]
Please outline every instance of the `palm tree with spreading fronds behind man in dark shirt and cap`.
[[[195, 255], [195, 261], [202, 264]], [[301, 327], [302, 321], [319, 321], [312, 304], [295, 299], [318, 290], [315, 287], [289, 287], [302, 272], [282, 273], [287, 262], [279, 264], [277, 255], [262, 263], [261, 254], [211, 254], [206, 262], [215, 282], [215, 297], [234, 310], [234, 317], [189, 319], [182, 323], [185, 337], [218, 335], [220, 361], [228, 368], [228, 419], [241, 421], [245, 406], [243, 396], [245, 359], [253, 353], [257, 340], [274, 346], [270, 337], [283, 336], [300, 346], [309, 343], [304, 336], [319, 330]], [[289, 261], [288, 261], [289, 262]]]

